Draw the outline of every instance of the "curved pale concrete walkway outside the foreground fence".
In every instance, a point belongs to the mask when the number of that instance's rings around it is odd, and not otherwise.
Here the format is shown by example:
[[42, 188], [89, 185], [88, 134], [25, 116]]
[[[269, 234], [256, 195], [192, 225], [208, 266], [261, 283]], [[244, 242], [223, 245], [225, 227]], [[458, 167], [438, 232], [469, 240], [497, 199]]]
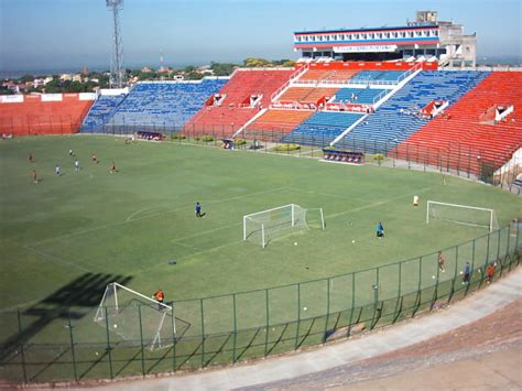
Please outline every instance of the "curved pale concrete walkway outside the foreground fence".
[[522, 298], [522, 269], [441, 312], [306, 352], [289, 354], [251, 365], [208, 369], [133, 381], [117, 381], [101, 390], [230, 390], [316, 373], [422, 343], [465, 326]]

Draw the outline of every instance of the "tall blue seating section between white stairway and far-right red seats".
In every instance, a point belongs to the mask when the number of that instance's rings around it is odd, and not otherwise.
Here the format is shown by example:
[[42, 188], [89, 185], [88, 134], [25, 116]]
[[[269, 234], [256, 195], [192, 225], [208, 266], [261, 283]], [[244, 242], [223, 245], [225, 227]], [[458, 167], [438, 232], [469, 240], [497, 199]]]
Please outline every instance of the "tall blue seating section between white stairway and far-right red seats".
[[479, 84], [488, 73], [465, 70], [423, 70], [395, 93], [378, 111], [345, 135], [336, 146], [388, 152], [405, 141], [428, 119], [421, 109], [436, 99], [449, 105]]

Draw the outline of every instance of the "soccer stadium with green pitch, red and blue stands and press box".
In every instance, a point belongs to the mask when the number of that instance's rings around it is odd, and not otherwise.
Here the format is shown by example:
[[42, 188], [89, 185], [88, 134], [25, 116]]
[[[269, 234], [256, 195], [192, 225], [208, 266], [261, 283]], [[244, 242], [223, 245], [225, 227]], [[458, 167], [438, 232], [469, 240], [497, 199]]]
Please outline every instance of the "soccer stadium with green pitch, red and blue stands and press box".
[[113, 88], [0, 96], [2, 385], [276, 372], [519, 275], [522, 68], [478, 66], [480, 36], [420, 11], [129, 83], [121, 4]]

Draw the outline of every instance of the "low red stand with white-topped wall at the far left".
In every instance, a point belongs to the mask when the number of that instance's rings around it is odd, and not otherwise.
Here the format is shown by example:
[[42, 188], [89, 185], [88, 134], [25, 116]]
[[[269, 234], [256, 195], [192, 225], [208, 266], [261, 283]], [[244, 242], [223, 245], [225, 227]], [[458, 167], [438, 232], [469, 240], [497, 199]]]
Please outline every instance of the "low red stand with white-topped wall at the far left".
[[0, 132], [14, 135], [76, 133], [94, 94], [43, 94], [1, 97]]

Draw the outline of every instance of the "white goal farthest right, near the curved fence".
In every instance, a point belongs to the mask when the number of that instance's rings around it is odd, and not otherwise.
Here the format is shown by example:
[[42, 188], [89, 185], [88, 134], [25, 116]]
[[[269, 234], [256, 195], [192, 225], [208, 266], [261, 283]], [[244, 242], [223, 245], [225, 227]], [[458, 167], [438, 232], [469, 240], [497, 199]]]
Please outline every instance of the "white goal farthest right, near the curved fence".
[[488, 228], [490, 232], [499, 229], [497, 214], [493, 209], [428, 200], [426, 224], [433, 220], [445, 220], [466, 226], [483, 227]]

